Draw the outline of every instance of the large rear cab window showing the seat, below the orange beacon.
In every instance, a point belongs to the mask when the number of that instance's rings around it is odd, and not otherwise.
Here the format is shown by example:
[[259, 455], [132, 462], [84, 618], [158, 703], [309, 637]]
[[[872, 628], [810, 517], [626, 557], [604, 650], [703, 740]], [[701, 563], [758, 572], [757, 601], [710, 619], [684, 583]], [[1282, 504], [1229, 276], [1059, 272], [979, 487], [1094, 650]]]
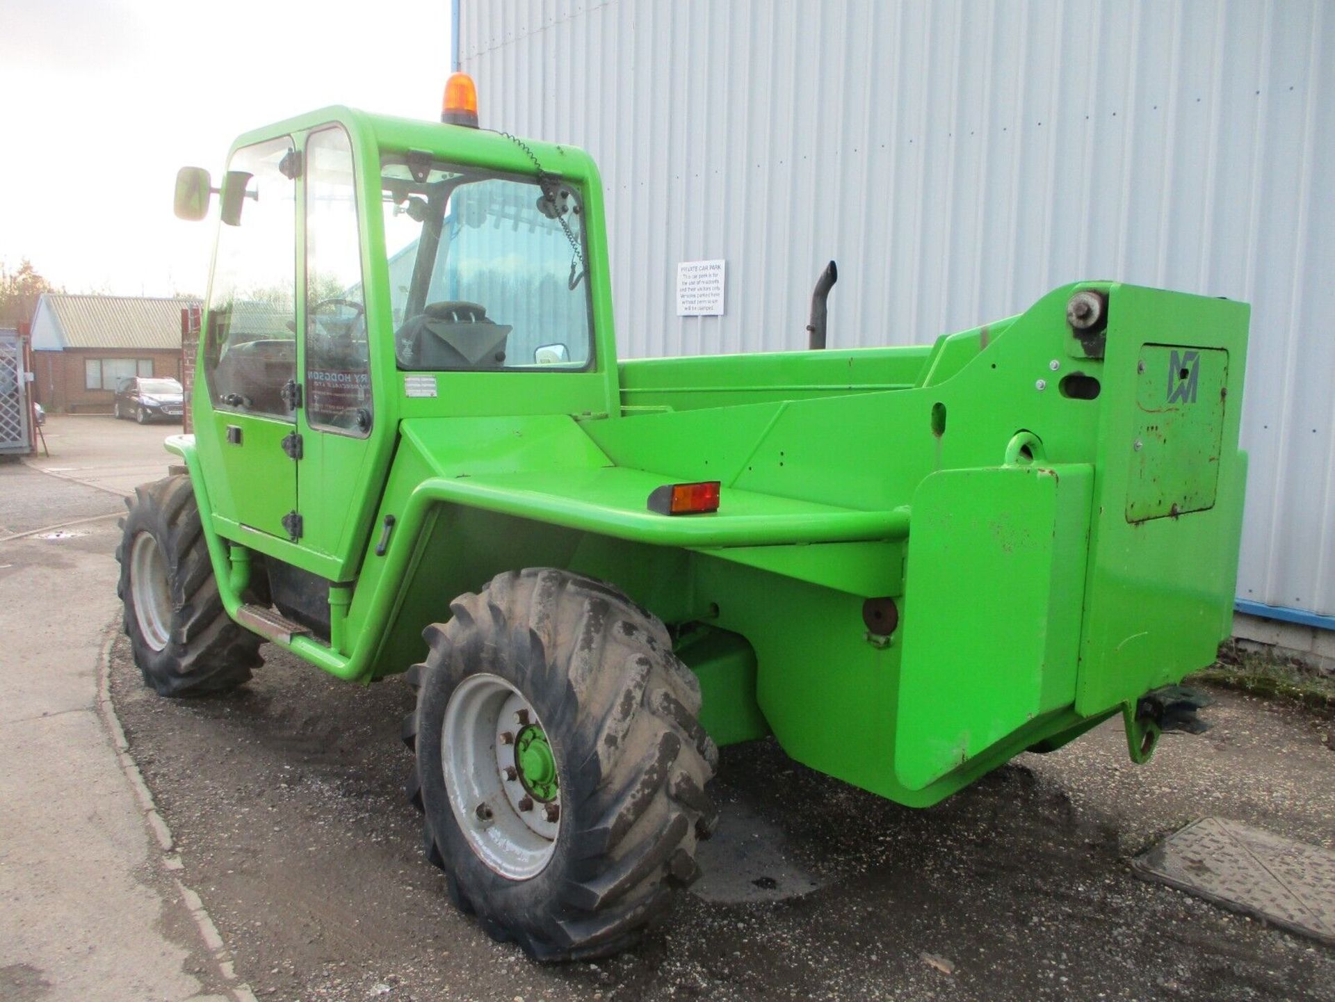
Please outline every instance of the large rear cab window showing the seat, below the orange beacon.
[[400, 370], [587, 368], [574, 188], [402, 156], [380, 173]]

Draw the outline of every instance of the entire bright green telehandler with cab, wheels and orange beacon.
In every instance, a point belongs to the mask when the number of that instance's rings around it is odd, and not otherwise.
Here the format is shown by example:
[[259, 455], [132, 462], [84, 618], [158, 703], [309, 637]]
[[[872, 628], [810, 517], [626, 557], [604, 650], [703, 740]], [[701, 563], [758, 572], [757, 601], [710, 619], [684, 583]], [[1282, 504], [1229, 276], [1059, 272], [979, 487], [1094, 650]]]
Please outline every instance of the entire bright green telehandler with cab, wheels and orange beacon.
[[930, 346], [618, 363], [593, 161], [449, 92], [453, 124], [232, 147], [188, 474], [119, 550], [148, 684], [238, 686], [266, 640], [407, 671], [426, 857], [550, 959], [696, 878], [721, 744], [924, 806], [1115, 714], [1137, 762], [1191, 723], [1244, 304], [1081, 282]]

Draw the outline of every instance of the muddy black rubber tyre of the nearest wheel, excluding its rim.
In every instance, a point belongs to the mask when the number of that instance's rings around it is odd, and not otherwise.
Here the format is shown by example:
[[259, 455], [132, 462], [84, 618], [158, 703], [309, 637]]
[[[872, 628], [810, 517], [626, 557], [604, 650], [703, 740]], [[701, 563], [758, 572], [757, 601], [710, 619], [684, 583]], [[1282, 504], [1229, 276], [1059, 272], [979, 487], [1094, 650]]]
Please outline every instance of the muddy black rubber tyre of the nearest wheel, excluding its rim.
[[[566, 571], [501, 574], [427, 627], [403, 724], [407, 789], [425, 813], [427, 859], [454, 903], [498, 941], [545, 961], [617, 953], [700, 873], [696, 845], [716, 811], [705, 783], [718, 750], [697, 722], [700, 684], [654, 616]], [[561, 826], [545, 867], [510, 879], [474, 851], [450, 806], [443, 716], [466, 678], [490, 672], [534, 707], [555, 753]]]

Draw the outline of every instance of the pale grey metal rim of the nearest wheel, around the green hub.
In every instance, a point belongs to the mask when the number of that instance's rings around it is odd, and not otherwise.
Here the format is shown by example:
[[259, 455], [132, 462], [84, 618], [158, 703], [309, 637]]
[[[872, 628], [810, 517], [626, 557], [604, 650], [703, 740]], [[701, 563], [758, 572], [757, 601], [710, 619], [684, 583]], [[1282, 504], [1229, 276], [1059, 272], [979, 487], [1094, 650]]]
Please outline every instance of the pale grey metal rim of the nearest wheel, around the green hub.
[[454, 819], [478, 858], [511, 881], [542, 873], [561, 831], [559, 790], [535, 798], [515, 761], [517, 738], [533, 727], [550, 747], [533, 706], [499, 675], [469, 675], [445, 707], [441, 766]]

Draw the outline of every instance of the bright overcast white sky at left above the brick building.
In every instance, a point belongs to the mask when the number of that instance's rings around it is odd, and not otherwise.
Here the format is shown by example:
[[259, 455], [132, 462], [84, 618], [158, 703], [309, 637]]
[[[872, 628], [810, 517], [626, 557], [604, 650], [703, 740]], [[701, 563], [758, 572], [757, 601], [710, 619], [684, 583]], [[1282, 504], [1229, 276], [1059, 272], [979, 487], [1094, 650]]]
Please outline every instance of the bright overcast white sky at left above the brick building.
[[171, 211], [240, 132], [326, 104], [438, 120], [450, 0], [0, 0], [0, 260], [71, 292], [204, 291]]

